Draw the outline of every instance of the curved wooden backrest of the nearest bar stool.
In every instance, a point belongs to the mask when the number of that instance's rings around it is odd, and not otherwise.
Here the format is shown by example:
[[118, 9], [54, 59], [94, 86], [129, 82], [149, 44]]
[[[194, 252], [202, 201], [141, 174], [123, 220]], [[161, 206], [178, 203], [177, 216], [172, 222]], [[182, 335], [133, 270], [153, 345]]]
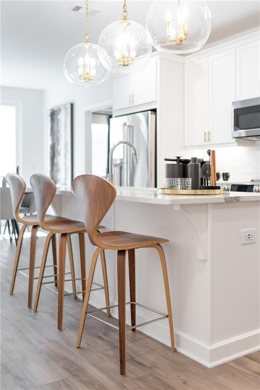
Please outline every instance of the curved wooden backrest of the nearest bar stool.
[[99, 246], [98, 228], [116, 197], [116, 189], [99, 176], [81, 175], [72, 182], [89, 240]]

